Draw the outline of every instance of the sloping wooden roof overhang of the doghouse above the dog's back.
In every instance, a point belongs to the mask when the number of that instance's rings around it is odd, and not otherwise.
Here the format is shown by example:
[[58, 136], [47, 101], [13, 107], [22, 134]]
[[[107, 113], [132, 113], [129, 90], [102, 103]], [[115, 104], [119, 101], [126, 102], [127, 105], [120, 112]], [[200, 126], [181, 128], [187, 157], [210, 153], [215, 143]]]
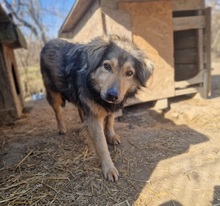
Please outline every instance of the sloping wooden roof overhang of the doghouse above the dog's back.
[[68, 16], [62, 24], [58, 36], [60, 37], [64, 33], [68, 33], [73, 30], [77, 25], [81, 17], [86, 13], [88, 8], [95, 2], [95, 0], [76, 0], [75, 4], [71, 8]]

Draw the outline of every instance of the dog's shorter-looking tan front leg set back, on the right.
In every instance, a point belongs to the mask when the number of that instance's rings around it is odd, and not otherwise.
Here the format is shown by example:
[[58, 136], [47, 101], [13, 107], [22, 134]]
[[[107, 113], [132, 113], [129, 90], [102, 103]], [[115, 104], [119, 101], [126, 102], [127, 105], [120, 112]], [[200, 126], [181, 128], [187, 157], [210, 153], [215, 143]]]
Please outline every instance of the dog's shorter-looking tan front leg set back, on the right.
[[121, 143], [120, 136], [118, 136], [114, 130], [114, 121], [115, 121], [114, 113], [111, 113], [106, 117], [105, 137], [109, 144], [120, 144]]

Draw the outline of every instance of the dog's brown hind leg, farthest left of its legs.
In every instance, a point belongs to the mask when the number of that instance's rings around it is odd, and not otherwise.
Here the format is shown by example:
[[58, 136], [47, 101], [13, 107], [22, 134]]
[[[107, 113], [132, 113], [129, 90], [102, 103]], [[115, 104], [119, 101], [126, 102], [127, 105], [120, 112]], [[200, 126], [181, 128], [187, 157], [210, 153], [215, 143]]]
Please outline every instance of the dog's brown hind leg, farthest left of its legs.
[[47, 100], [55, 112], [59, 134], [65, 134], [66, 127], [62, 119], [62, 108], [61, 108], [65, 104], [64, 100], [62, 99], [60, 93], [56, 93], [52, 91], [47, 91]]

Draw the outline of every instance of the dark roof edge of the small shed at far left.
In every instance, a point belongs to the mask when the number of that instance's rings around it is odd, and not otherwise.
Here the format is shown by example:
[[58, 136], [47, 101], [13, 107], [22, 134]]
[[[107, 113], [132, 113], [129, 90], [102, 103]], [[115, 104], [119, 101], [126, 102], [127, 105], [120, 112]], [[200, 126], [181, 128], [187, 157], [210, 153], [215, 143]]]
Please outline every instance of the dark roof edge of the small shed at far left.
[[21, 30], [15, 25], [10, 14], [0, 4], [0, 43], [16, 48], [27, 48], [26, 40]]

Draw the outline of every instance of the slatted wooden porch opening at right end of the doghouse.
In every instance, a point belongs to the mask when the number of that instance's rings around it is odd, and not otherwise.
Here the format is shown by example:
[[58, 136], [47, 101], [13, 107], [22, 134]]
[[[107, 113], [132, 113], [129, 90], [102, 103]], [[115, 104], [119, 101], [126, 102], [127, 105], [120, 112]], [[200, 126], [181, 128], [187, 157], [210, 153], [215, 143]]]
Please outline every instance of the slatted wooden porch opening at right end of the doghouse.
[[210, 94], [210, 16], [204, 7], [174, 12], [175, 95]]

